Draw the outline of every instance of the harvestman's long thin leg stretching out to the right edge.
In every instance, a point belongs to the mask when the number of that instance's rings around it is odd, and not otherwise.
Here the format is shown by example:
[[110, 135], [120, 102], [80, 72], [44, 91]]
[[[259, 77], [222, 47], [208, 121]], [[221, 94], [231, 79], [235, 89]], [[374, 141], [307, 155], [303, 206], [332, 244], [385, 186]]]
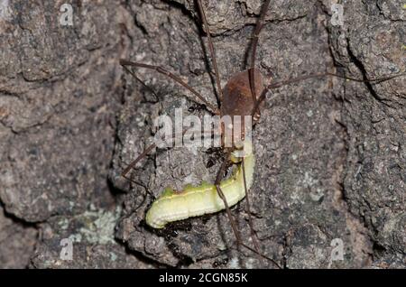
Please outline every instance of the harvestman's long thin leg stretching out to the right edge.
[[261, 103], [263, 102], [263, 100], [266, 97], [266, 93], [270, 89], [272, 89], [272, 88], [281, 88], [282, 86], [290, 85], [292, 83], [296, 83], [296, 82], [299, 82], [300, 80], [304, 80], [304, 79], [315, 79], [315, 78], [322, 78], [322, 77], [326, 77], [326, 76], [336, 77], [336, 78], [340, 78], [340, 79], [354, 80], [355, 82], [360, 82], [360, 83], [380, 83], [380, 82], [383, 82], [385, 80], [395, 79], [395, 78], [398, 78], [398, 77], [401, 77], [401, 76], [406, 76], [406, 73], [400, 73], [400, 74], [396, 74], [396, 75], [392, 75], [392, 76], [386, 76], [386, 77], [379, 78], [379, 79], [355, 79], [355, 78], [351, 78], [351, 77], [345, 77], [345, 76], [325, 72], [325, 73], [310, 74], [310, 75], [307, 75], [307, 76], [302, 76], [302, 77], [298, 77], [298, 78], [294, 78], [294, 79], [281, 80], [279, 82], [272, 83], [271, 85], [268, 85], [266, 88], [263, 89], [263, 92], [261, 93], [261, 96], [258, 98], [258, 100], [256, 101], [256, 103], [254, 105], [251, 116], [254, 116], [257, 113], [259, 106], [261, 105]]

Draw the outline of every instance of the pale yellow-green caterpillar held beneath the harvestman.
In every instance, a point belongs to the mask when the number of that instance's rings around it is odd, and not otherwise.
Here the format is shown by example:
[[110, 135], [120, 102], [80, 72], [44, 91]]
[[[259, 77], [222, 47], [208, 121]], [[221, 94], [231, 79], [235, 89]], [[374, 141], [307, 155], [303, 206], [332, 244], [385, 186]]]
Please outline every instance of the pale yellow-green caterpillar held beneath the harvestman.
[[[254, 153], [250, 141], [245, 140], [244, 150], [232, 153], [231, 161], [238, 163], [233, 174], [220, 182], [229, 207], [245, 198], [244, 174], [241, 165], [244, 156], [246, 188], [250, 189], [254, 178]], [[167, 188], [152, 203], [146, 214], [146, 223], [153, 228], [162, 228], [169, 222], [198, 217], [225, 209], [224, 201], [218, 196], [214, 184], [202, 182], [199, 186], [187, 186], [175, 191]]]

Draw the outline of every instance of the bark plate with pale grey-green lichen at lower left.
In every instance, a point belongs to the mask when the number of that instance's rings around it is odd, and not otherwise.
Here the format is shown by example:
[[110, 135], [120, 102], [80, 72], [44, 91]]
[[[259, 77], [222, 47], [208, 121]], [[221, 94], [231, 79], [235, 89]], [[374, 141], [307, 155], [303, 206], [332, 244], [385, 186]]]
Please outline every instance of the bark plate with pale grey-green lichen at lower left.
[[121, 208], [92, 209], [74, 217], [53, 217], [41, 225], [32, 257], [36, 268], [151, 268], [115, 240]]

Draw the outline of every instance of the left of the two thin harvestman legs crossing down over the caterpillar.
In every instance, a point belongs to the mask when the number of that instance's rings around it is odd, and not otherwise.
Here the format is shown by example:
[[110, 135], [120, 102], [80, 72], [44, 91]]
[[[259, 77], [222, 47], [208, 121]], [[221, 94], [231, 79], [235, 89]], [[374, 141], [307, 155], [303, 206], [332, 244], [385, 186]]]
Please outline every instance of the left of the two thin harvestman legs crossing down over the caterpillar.
[[[230, 154], [230, 153], [227, 153], [227, 154], [226, 154], [226, 158], [228, 158], [229, 154]], [[278, 268], [281, 269], [281, 266], [280, 266], [278, 263], [276, 263], [272, 258], [270, 258], [270, 257], [268, 257], [268, 256], [266, 256], [266, 255], [263, 255], [262, 253], [257, 252], [254, 248], [252, 248], [252, 247], [250, 247], [250, 246], [248, 246], [248, 245], [245, 245], [244, 242], [243, 242], [243, 240], [241, 240], [240, 233], [238, 232], [238, 229], [237, 229], [236, 224], [235, 224], [235, 219], [234, 219], [234, 217], [233, 217], [233, 215], [232, 215], [232, 213], [231, 213], [231, 210], [230, 210], [230, 208], [229, 208], [229, 206], [228, 206], [226, 197], [225, 197], [223, 191], [222, 191], [221, 188], [220, 188], [220, 181], [223, 179], [223, 174], [224, 174], [224, 171], [225, 171], [225, 169], [226, 169], [226, 164], [227, 164], [226, 161], [224, 161], [224, 162], [221, 164], [220, 169], [219, 169], [219, 171], [217, 172], [217, 177], [216, 177], [216, 181], [215, 181], [215, 186], [216, 186], [216, 189], [217, 189], [217, 194], [218, 194], [218, 196], [220, 197], [220, 199], [223, 200], [224, 205], [225, 205], [225, 207], [226, 207], [226, 214], [227, 214], [228, 220], [230, 221], [231, 227], [232, 227], [233, 232], [234, 232], [234, 235], [235, 235], [235, 239], [236, 239], [236, 243], [237, 243], [237, 249], [238, 249], [238, 246], [239, 246], [239, 245], [242, 245], [242, 246], [244, 246], [246, 249], [248, 249], [248, 250], [254, 252], [254, 254], [263, 256], [263, 258], [265, 258], [265, 259], [271, 261], [272, 264], [275, 264], [275, 266], [277, 266]]]

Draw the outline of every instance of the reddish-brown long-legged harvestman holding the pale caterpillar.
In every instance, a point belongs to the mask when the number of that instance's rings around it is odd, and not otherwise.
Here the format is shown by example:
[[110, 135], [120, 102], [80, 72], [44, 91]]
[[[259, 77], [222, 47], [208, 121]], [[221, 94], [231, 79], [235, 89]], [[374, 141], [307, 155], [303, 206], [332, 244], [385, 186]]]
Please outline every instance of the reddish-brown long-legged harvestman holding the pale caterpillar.
[[[260, 112], [259, 112], [260, 106], [263, 103], [263, 101], [265, 100], [267, 92], [272, 88], [280, 88], [283, 85], [289, 85], [291, 83], [298, 82], [298, 81], [304, 80], [304, 79], [314, 79], [314, 78], [321, 78], [321, 77], [326, 77], [326, 76], [333, 76], [333, 77], [337, 77], [337, 78], [341, 78], [341, 79], [351, 79], [351, 80], [355, 80], [358, 82], [382, 82], [384, 80], [393, 79], [393, 78], [404, 75], [403, 73], [401, 73], [401, 74], [397, 74], [397, 75], [393, 75], [393, 76], [389, 76], [389, 77], [384, 77], [381, 79], [362, 80], [362, 79], [353, 79], [353, 78], [343, 77], [343, 76], [339, 76], [337, 74], [333, 74], [333, 73], [329, 73], [329, 72], [324, 72], [324, 73], [318, 73], [318, 74], [310, 74], [310, 75], [302, 76], [302, 77], [295, 78], [295, 79], [287, 79], [287, 80], [283, 80], [280, 82], [272, 83], [272, 84], [268, 85], [267, 87], [263, 87], [263, 77], [262, 77], [260, 71], [258, 69], [254, 68], [255, 67], [255, 54], [256, 54], [256, 48], [258, 45], [259, 35], [263, 28], [264, 17], [265, 17], [266, 12], [268, 11], [270, 2], [271, 2], [271, 0], [265, 0], [263, 7], [261, 9], [260, 17], [258, 19], [258, 22], [255, 25], [253, 42], [252, 42], [252, 50], [251, 50], [251, 58], [250, 58], [250, 62], [249, 62], [249, 69], [245, 69], [244, 71], [241, 71], [241, 72], [233, 75], [231, 77], [231, 79], [228, 80], [226, 87], [224, 89], [222, 89], [221, 85], [220, 85], [220, 77], [219, 77], [218, 69], [217, 69], [217, 60], [216, 60], [216, 56], [215, 56], [216, 53], [215, 53], [214, 45], [213, 45], [211, 35], [210, 35], [209, 29], [208, 29], [208, 21], [207, 21], [203, 6], [201, 5], [201, 1], [197, 0], [198, 12], [200, 14], [204, 30], [207, 33], [208, 50], [209, 50], [210, 57], [212, 60], [214, 74], [216, 76], [216, 78], [215, 78], [216, 87], [217, 87], [216, 97], [217, 97], [218, 106], [213, 106], [212, 104], [208, 103], [208, 101], [204, 97], [202, 97], [198, 93], [198, 91], [196, 91], [194, 88], [191, 88], [188, 84], [186, 84], [184, 81], [182, 81], [180, 79], [180, 77], [172, 74], [167, 69], [164, 69], [160, 66], [148, 65], [148, 64], [143, 64], [143, 63], [139, 63], [139, 62], [133, 62], [130, 60], [120, 60], [120, 64], [125, 68], [125, 70], [127, 72], [132, 74], [135, 79], [138, 79], [138, 78], [136, 77], [136, 75], [134, 74], [134, 72], [131, 69], [127, 68], [127, 66], [132, 66], [132, 67], [136, 67], [136, 68], [154, 69], [157, 72], [159, 72], [163, 75], [166, 75], [167, 77], [175, 80], [178, 84], [180, 84], [184, 88], [189, 89], [189, 91], [198, 98], [198, 100], [200, 101], [200, 104], [203, 103], [205, 106], [207, 106], [209, 111], [212, 114], [217, 115], [217, 116], [226, 116], [226, 115], [242, 116], [243, 118], [244, 118], [244, 116], [252, 116], [252, 118], [254, 119], [254, 124], [256, 124], [256, 122], [258, 122], [259, 117], [260, 117]], [[195, 101], [195, 100], [193, 100], [193, 101]], [[225, 128], [227, 128], [227, 127], [222, 126], [221, 134], [222, 134], [222, 139], [223, 139], [222, 143], [223, 144], [225, 141], [225, 139], [224, 139]], [[233, 127], [231, 127], [231, 129], [233, 129]], [[232, 132], [234, 134], [234, 130]], [[241, 138], [244, 139], [246, 131], [243, 130], [243, 131], [239, 131], [239, 132], [241, 132]], [[141, 161], [143, 159], [143, 157], [145, 157], [148, 153], [151, 153], [152, 150], [155, 148], [156, 148], [155, 144], [149, 145], [143, 151], [143, 153], [141, 153], [133, 162], [131, 162], [125, 168], [125, 170], [122, 172], [122, 176], [125, 177], [125, 179], [128, 181], [132, 181], [131, 178], [128, 177], [128, 173], [134, 169], [137, 162]], [[247, 158], [242, 157], [240, 159], [240, 161], [238, 162], [239, 167], [238, 167], [237, 173], [239, 172], [240, 179], [243, 182], [242, 189], [244, 189], [244, 191], [245, 191], [244, 195], [246, 198], [245, 208], [246, 208], [246, 211], [248, 214], [248, 224], [250, 227], [250, 234], [251, 234], [251, 237], [254, 242], [254, 247], [245, 245], [245, 243], [241, 239], [241, 236], [240, 236], [238, 229], [236, 227], [236, 224], [235, 224], [235, 218], [233, 218], [233, 215], [230, 210], [230, 204], [229, 204], [229, 202], [227, 202], [227, 199], [226, 199], [226, 198], [228, 198], [228, 196], [225, 196], [225, 192], [223, 192], [224, 191], [223, 189], [226, 189], [224, 181], [223, 181], [224, 173], [226, 171], [226, 168], [230, 165], [230, 163], [233, 163], [233, 161], [230, 159], [230, 157], [233, 155], [235, 150], [241, 149], [241, 146], [236, 146], [236, 143], [233, 142], [233, 146], [231, 148], [226, 147], [224, 149], [225, 149], [225, 154], [226, 154], [226, 160], [224, 162], [222, 162], [220, 169], [217, 172], [217, 177], [216, 177], [216, 181], [214, 183], [214, 187], [208, 187], [206, 185], [204, 185], [204, 186], [202, 185], [202, 186], [195, 188], [195, 190], [200, 189], [199, 191], [202, 191], [202, 192], [206, 192], [206, 190], [211, 190], [211, 191], [215, 190], [215, 192], [217, 192], [217, 197], [219, 197], [219, 199], [221, 199], [223, 202], [223, 208], [221, 208], [221, 209], [224, 209], [224, 208], [226, 209], [227, 217], [230, 221], [231, 227], [235, 234], [237, 246], [239, 246], [239, 245], [244, 246], [245, 248], [251, 250], [255, 254], [261, 255], [263, 258], [270, 260], [273, 264], [275, 264], [277, 267], [280, 268], [280, 265], [277, 264], [272, 258], [269, 258], [260, 252], [260, 246], [259, 246], [258, 241], [256, 240], [256, 237], [254, 234], [253, 219], [251, 217], [250, 200], [249, 200], [249, 195], [248, 195], [249, 187], [247, 187], [247, 180], [246, 180], [246, 175], [245, 175], [245, 165], [247, 164], [245, 161], [248, 160], [248, 157]], [[234, 161], [234, 163], [236, 163], [236, 162]], [[251, 164], [251, 163], [249, 163], [249, 164]], [[252, 181], [252, 179], [249, 179], [248, 181]], [[188, 191], [182, 190], [182, 191], [178, 192], [178, 194], [182, 194], [182, 192], [187, 193], [187, 192], [189, 192], [189, 190]], [[177, 193], [174, 192], [173, 190], [170, 190], [170, 191], [167, 190], [166, 195], [164, 192], [164, 195], [162, 195], [162, 197], [165, 197], [168, 194], [170, 195], [170, 197], [176, 198], [178, 196]], [[244, 198], [244, 196], [242, 198]], [[236, 202], [233, 202], [233, 205], [235, 203]], [[213, 212], [217, 212], [221, 209], [218, 208], [217, 210], [212, 210], [210, 212], [205, 212], [205, 213], [213, 213]], [[197, 215], [194, 214], [194, 215], [190, 215], [186, 218], [189, 218], [191, 216], [198, 216], [198, 215], [202, 215], [202, 214], [197, 214]], [[148, 217], [148, 213], [147, 213], [147, 217]], [[175, 221], [175, 220], [180, 220], [180, 219], [184, 219], [184, 218], [185, 217], [177, 218], [177, 219], [175, 218], [174, 220], [169, 220], [169, 221]], [[155, 227], [158, 227], [158, 225]], [[163, 227], [163, 225], [162, 225], [162, 227]]]

